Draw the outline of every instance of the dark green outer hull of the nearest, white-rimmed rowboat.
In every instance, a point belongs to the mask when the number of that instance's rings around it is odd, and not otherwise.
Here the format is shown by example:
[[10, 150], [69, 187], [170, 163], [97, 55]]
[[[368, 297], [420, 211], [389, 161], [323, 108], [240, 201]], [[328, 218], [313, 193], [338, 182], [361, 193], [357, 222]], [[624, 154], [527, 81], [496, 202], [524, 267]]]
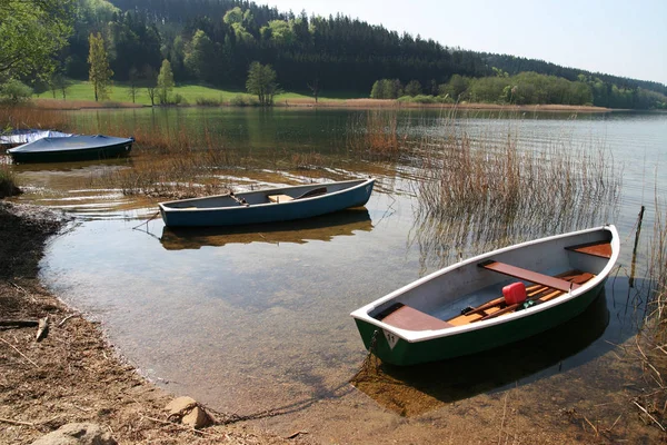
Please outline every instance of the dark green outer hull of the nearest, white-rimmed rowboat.
[[600, 283], [577, 298], [554, 306], [549, 310], [488, 326], [482, 329], [468, 330], [457, 335], [415, 343], [395, 337], [397, 342], [394, 347], [390, 346], [388, 339], [391, 333], [358, 318], [355, 318], [355, 322], [357, 323], [364, 345], [368, 350], [372, 352], [374, 355], [385, 363], [409, 366], [494, 349], [548, 330], [586, 310], [600, 294], [603, 287], [604, 283]]

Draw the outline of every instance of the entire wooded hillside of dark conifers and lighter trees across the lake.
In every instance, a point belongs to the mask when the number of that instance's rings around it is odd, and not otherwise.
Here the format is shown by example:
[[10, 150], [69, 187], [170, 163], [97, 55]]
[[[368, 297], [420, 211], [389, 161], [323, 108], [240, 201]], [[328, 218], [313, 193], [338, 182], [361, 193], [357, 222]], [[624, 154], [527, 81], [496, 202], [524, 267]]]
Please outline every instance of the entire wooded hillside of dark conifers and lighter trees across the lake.
[[[178, 83], [242, 90], [259, 61], [275, 69], [281, 88], [329, 97], [667, 108], [659, 82], [450, 48], [340, 14], [308, 17], [239, 0], [76, 0], [58, 76], [88, 79], [88, 39], [97, 32], [121, 82], [155, 77], [167, 59]], [[394, 87], [381, 91], [378, 82]]]

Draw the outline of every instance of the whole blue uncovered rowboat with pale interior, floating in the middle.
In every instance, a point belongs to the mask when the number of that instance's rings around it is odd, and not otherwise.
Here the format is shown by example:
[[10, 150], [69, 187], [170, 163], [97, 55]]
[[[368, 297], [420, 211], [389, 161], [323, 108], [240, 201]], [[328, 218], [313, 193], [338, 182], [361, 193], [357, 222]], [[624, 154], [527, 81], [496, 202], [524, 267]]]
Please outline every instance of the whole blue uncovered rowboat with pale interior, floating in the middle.
[[375, 179], [310, 184], [160, 202], [168, 227], [239, 226], [289, 221], [368, 202]]

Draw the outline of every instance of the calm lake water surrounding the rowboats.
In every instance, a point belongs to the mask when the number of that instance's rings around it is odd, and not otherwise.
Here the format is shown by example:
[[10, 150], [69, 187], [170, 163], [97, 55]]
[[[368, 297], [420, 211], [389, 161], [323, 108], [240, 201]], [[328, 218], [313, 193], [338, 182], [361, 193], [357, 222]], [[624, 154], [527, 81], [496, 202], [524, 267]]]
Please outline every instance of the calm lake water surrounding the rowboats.
[[[62, 207], [77, 219], [73, 230], [51, 243], [42, 264], [43, 280], [66, 301], [100, 319], [121, 353], [169, 390], [237, 414], [289, 406], [307, 411], [318, 400], [329, 400], [331, 413], [345, 412], [335, 400], [359, 390], [347, 383], [366, 357], [349, 317], [351, 310], [458, 256], [556, 230], [522, 227], [518, 220], [506, 239], [461, 237], [455, 248], [447, 234], [459, 222], [448, 221], [450, 227], [444, 231], [440, 222], [416, 217], [420, 197], [415, 191], [415, 162], [349, 159], [345, 142], [364, 113], [187, 109], [78, 115], [90, 132], [119, 120], [145, 131], [206, 128], [223, 135], [228, 147], [257, 158], [271, 160], [278, 151], [283, 157], [318, 152], [330, 162], [317, 170], [280, 169], [268, 162], [261, 172], [243, 171], [239, 184], [374, 175], [378, 185], [365, 209], [335, 217], [246, 231], [175, 231], [158, 218], [133, 230], [155, 214], [155, 202], [82, 186], [100, 169], [131, 168], [131, 161], [16, 166], [21, 182], [29, 186], [22, 200]], [[446, 119], [438, 112], [406, 111], [398, 127], [406, 140], [418, 140], [445, 136]], [[526, 150], [584, 146], [613, 156], [621, 178], [619, 199], [600, 202], [596, 211], [559, 228], [616, 224], [623, 240], [621, 269], [608, 281], [605, 296], [568, 326], [502, 354], [491, 352], [439, 365], [437, 372], [432, 367], [389, 369], [387, 378], [414, 389], [401, 405], [408, 415], [431, 412], [437, 416], [438, 404], [432, 399], [466, 399], [561, 373], [583, 377], [578, 374], [583, 364], [595, 366], [599, 357], [609, 355], [610, 344], [629, 338], [643, 315], [641, 304], [627, 285], [633, 228], [640, 206], [646, 205], [644, 233], [651, 231], [656, 192], [661, 198], [667, 189], [660, 174], [667, 161], [667, 115], [507, 119], [472, 113], [455, 123], [477, 141], [501, 140], [512, 134]], [[484, 219], [478, 224], [482, 226]], [[485, 227], [477, 231], [485, 233]], [[641, 257], [648, 244], [646, 236]], [[496, 372], [489, 373], [489, 366]], [[442, 375], [448, 377], [438, 377]], [[381, 393], [361, 389], [371, 398]], [[561, 396], [568, 399], [567, 394]], [[430, 402], [421, 404], [424, 397]], [[375, 406], [392, 409], [381, 396]], [[278, 428], [286, 427], [275, 422]]]

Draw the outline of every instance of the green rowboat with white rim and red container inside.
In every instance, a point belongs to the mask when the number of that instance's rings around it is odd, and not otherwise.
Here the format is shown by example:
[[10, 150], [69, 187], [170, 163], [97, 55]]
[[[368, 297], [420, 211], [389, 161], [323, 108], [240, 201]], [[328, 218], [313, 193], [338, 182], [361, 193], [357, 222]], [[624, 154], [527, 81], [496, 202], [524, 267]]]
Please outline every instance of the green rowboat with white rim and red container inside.
[[475, 354], [581, 314], [619, 250], [614, 226], [522, 243], [446, 267], [351, 316], [366, 348], [389, 364]]

